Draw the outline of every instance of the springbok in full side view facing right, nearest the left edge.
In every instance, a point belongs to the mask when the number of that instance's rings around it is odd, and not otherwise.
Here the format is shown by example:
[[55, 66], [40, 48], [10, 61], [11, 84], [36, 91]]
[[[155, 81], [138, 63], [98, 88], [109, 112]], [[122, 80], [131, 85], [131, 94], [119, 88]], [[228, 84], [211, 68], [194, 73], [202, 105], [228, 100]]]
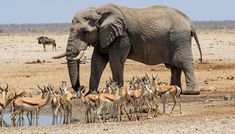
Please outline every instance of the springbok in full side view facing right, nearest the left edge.
[[[39, 87], [39, 86], [38, 86]], [[38, 97], [21, 97], [21, 98], [16, 98], [13, 100], [13, 108], [14, 112], [11, 114], [11, 120], [12, 124], [15, 126], [15, 116], [17, 114], [20, 114], [22, 112], [29, 112], [29, 111], [35, 111], [35, 116], [36, 116], [36, 125], [38, 125], [38, 119], [39, 119], [39, 112], [40, 108], [45, 106], [49, 101], [51, 101], [51, 86], [44, 86], [44, 90], [47, 90], [48, 93], [43, 92], [42, 98]], [[47, 96], [46, 96], [47, 94]], [[46, 97], [45, 97], [46, 96]]]

